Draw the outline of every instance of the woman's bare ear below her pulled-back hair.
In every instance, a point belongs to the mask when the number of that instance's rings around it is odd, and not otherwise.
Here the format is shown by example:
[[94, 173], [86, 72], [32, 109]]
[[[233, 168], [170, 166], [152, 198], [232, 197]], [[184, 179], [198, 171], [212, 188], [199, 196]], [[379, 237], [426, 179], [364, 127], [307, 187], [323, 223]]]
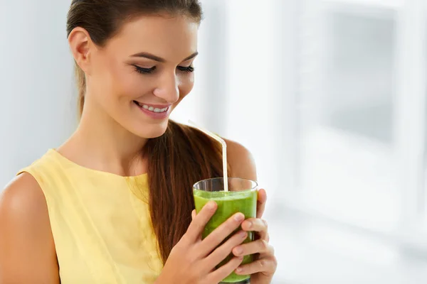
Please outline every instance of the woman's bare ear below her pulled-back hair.
[[84, 28], [74, 28], [68, 35], [68, 45], [77, 65], [85, 72], [90, 74], [90, 52], [95, 47], [88, 31]]

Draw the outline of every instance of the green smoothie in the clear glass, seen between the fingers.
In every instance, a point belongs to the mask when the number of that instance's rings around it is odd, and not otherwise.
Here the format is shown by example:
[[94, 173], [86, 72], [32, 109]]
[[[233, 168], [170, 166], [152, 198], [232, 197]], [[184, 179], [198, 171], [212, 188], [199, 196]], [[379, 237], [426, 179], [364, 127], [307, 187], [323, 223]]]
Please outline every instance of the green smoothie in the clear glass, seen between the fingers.
[[[194, 189], [194, 204], [196, 205], [196, 212], [199, 213], [204, 205], [210, 200], [214, 200], [216, 204], [218, 204], [218, 209], [216, 209], [214, 216], [211, 218], [211, 220], [209, 220], [208, 224], [206, 224], [202, 234], [203, 238], [211, 234], [211, 231], [214, 231], [214, 229], [216, 229], [219, 225], [233, 216], [233, 214], [238, 212], [243, 213], [245, 215], [245, 219], [256, 217], [256, 190], [245, 190], [241, 192], [209, 192]], [[238, 230], [241, 230], [241, 228], [238, 228], [233, 232], [233, 234], [235, 234]], [[231, 234], [231, 236], [233, 234]], [[248, 237], [245, 241], [243, 241], [243, 243], [246, 244], [250, 241], [253, 241], [253, 232], [249, 232]], [[218, 267], [230, 261], [231, 258], [233, 258], [233, 255], [230, 255], [224, 259], [218, 265]], [[252, 256], [245, 256], [243, 258], [242, 264], [251, 263], [251, 261]], [[228, 277], [224, 279], [223, 282], [235, 283], [246, 280], [250, 277], [250, 275], [237, 275], [233, 272], [231, 275], [228, 275]]]

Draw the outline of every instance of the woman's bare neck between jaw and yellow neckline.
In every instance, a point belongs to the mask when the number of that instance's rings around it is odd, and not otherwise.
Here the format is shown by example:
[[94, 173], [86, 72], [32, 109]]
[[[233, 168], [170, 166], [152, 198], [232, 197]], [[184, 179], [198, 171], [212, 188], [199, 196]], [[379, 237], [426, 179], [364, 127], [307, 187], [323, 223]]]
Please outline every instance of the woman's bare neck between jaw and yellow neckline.
[[147, 171], [142, 159], [147, 141], [127, 131], [99, 107], [85, 102], [78, 129], [58, 151], [87, 168], [140, 175]]

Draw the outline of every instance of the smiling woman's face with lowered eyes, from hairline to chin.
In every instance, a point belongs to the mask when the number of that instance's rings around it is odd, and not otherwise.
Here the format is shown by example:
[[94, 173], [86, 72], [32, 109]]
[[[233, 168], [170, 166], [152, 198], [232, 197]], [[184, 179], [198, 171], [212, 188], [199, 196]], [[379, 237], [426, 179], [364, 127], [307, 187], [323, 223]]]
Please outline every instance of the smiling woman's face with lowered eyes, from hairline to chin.
[[[199, 24], [185, 16], [141, 16], [90, 53], [88, 97], [131, 133], [162, 136], [194, 86]], [[89, 74], [88, 74], [89, 73]]]

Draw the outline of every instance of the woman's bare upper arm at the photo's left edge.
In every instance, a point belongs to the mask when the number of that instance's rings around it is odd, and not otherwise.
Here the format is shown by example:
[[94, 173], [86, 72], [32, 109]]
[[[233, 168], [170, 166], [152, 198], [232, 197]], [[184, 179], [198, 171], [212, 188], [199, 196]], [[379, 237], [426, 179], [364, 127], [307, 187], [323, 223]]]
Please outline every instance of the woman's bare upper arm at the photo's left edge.
[[0, 195], [0, 283], [60, 283], [46, 200], [28, 173]]

